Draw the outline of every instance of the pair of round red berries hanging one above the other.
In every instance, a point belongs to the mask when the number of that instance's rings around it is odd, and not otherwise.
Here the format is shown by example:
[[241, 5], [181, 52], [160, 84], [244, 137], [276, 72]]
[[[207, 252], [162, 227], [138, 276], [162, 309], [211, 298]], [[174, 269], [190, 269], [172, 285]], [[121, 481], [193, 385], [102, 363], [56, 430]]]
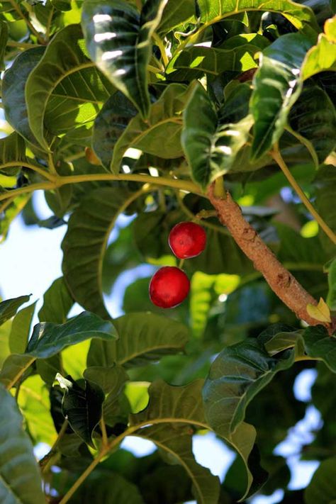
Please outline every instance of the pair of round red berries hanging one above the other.
[[[169, 247], [179, 259], [189, 259], [206, 248], [206, 232], [195, 223], [179, 223], [169, 233]], [[179, 305], [190, 289], [188, 276], [176, 266], [160, 268], [150, 281], [150, 301], [160, 308]]]

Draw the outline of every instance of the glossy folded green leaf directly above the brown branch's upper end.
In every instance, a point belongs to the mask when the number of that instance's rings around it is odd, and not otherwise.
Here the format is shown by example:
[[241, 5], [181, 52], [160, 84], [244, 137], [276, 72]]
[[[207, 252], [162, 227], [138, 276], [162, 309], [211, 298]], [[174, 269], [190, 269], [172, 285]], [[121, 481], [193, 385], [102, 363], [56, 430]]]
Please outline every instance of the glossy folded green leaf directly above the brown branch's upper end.
[[235, 124], [218, 125], [211, 99], [198, 85], [184, 112], [181, 135], [194, 180], [206, 187], [216, 177], [228, 172], [237, 152], [245, 145], [251, 126], [251, 116]]

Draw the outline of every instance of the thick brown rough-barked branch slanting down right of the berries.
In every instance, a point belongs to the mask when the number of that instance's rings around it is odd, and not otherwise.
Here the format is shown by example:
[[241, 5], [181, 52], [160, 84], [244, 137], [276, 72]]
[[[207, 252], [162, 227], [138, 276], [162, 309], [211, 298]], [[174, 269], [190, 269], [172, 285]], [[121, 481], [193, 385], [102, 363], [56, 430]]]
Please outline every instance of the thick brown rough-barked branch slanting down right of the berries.
[[317, 305], [317, 301], [303, 289], [294, 276], [276, 259], [269, 247], [264, 244], [257, 232], [242, 216], [240, 207], [229, 193], [226, 198], [214, 195], [214, 185], [208, 189], [208, 197], [218, 213], [220, 222], [228, 228], [237, 245], [251, 259], [254, 268], [260, 271], [265, 280], [281, 301], [288, 306], [298, 318], [309, 325], [321, 324], [307, 313], [308, 303]]

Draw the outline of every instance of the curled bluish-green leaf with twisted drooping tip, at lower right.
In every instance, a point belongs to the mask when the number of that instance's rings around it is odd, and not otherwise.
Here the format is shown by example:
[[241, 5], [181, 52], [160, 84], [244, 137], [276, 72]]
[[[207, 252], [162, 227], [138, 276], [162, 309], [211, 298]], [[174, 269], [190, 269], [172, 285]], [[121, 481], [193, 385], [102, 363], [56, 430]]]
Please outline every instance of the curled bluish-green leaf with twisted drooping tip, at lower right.
[[[291, 350], [279, 358], [269, 356], [264, 342], [271, 336], [272, 332], [268, 330], [257, 339], [247, 338], [223, 349], [211, 365], [203, 388], [209, 425], [232, 444], [245, 463], [247, 488], [242, 498], [264, 482], [264, 474], [257, 464], [250, 466], [249, 463], [256, 432], [252, 425], [243, 422], [245, 410], [252, 398], [267, 386], [273, 376], [278, 371], [289, 368], [294, 361]], [[257, 475], [257, 482], [252, 487], [254, 474]]]

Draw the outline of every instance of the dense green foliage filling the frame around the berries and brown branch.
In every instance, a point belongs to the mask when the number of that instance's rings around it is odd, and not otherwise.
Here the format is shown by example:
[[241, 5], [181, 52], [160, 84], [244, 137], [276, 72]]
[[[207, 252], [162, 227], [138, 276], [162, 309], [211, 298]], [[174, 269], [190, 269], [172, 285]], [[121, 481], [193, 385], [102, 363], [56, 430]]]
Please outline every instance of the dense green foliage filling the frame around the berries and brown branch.
[[[50, 233], [67, 227], [40, 322], [30, 330], [30, 296], [0, 303], [1, 503], [230, 504], [277, 488], [283, 503], [335, 502], [333, 9], [0, 2], [1, 236], [18, 213]], [[322, 298], [307, 308], [320, 325], [298, 320], [254, 269], [214, 212], [213, 181]], [[33, 206], [39, 189], [47, 220]], [[124, 228], [121, 214], [133, 216]], [[157, 308], [150, 279], [135, 279], [111, 320], [104, 295], [116, 279], [139, 264], [179, 266], [169, 231], [191, 220], [207, 245], [183, 264], [186, 301]], [[68, 316], [74, 303], [84, 311]], [[305, 415], [293, 394], [303, 369], [317, 370], [310, 403], [323, 422], [301, 457], [321, 464], [290, 491], [274, 449]], [[209, 430], [236, 452], [222, 482], [192, 452]], [[121, 449], [130, 435], [157, 451]], [[38, 464], [40, 442], [50, 452]]]

